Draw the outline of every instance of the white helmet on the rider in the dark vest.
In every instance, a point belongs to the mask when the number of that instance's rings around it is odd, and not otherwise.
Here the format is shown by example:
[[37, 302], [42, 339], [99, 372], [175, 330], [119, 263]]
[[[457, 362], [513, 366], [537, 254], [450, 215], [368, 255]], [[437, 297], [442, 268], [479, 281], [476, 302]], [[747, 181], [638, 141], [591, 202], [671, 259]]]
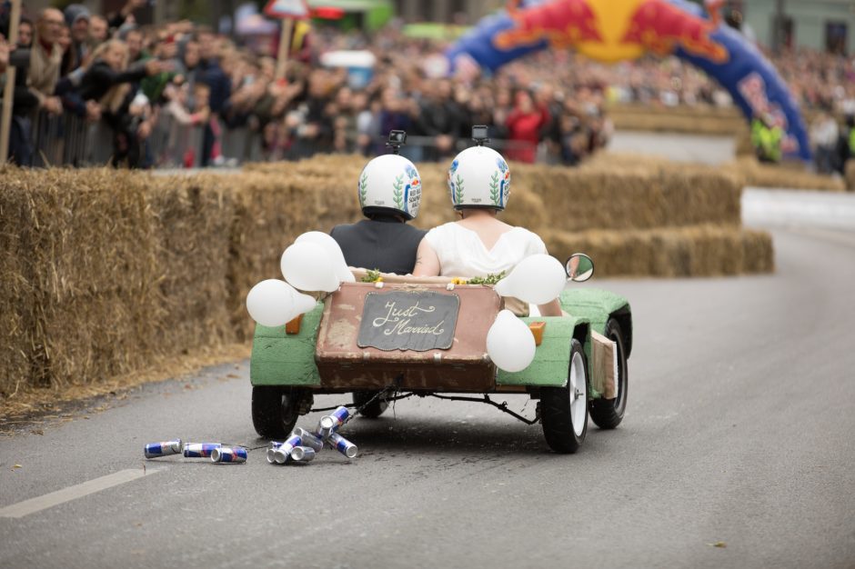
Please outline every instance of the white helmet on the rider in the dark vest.
[[404, 156], [377, 156], [362, 169], [357, 193], [363, 214], [391, 212], [414, 219], [421, 204], [421, 176]]

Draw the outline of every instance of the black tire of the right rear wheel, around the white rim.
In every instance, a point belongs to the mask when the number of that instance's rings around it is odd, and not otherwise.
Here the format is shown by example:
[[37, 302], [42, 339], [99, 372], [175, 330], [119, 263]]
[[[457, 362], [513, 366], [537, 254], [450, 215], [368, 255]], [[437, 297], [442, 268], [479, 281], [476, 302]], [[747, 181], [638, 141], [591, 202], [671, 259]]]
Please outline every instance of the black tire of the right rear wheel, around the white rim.
[[[588, 433], [588, 402], [584, 401], [581, 405], [584, 410], [584, 422], [579, 433], [577, 433], [579, 425], [573, 424], [573, 416], [570, 413], [571, 395], [578, 395], [571, 393], [570, 375], [573, 374], [574, 365], [577, 365], [577, 390], [579, 386], [583, 385], [584, 394], [581, 396], [587, 399], [588, 361], [582, 344], [579, 344], [575, 338], [570, 343], [567, 385], [540, 388], [540, 421], [543, 424], [543, 436], [546, 438], [549, 448], [561, 454], [575, 453], [585, 440], [585, 434]], [[580, 378], [578, 373], [581, 373]]]

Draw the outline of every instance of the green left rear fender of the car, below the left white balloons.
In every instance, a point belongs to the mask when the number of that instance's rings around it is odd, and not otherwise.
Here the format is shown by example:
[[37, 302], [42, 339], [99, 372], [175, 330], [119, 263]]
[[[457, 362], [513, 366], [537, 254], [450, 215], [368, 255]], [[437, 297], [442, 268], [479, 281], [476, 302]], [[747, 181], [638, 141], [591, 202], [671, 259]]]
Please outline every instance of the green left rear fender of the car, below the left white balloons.
[[286, 334], [285, 326], [256, 325], [249, 361], [249, 381], [253, 385], [320, 385], [315, 364], [317, 329], [324, 304], [303, 314], [299, 334]]

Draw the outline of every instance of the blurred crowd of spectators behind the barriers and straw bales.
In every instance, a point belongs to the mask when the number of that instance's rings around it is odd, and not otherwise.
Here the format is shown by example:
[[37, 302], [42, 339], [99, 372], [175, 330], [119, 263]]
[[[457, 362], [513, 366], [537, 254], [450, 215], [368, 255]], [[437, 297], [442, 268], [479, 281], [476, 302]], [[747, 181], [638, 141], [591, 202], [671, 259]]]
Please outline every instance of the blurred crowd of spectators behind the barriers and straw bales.
[[[0, 40], [0, 71], [18, 69], [11, 158], [38, 163], [45, 117], [80, 125], [88, 160], [131, 167], [221, 165], [297, 159], [314, 153], [384, 152], [384, 135], [406, 130], [404, 153], [445, 159], [467, 144], [472, 125], [508, 158], [575, 165], [606, 145], [610, 102], [730, 105], [702, 72], [670, 57], [599, 65], [567, 51], [530, 55], [495, 75], [446, 76], [442, 45], [408, 38], [395, 25], [370, 37], [319, 27], [292, 45], [284, 79], [277, 62], [189, 22], [136, 25], [146, 0], [116, 14], [84, 5], [25, 15], [17, 45]], [[0, 34], [7, 33], [0, 26]], [[331, 50], [376, 55], [367, 83], [319, 64]], [[800, 52], [776, 59], [802, 105], [855, 113], [851, 60]], [[193, 135], [191, 135], [191, 133]], [[236, 138], [240, 144], [235, 144]], [[67, 155], [67, 153], [66, 153]]]

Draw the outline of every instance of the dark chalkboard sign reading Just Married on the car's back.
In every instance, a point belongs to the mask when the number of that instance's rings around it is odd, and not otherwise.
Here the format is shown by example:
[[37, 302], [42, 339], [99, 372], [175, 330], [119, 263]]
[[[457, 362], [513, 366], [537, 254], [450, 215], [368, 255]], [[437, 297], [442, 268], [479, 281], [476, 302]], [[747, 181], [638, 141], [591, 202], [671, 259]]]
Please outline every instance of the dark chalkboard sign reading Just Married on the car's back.
[[448, 350], [460, 297], [431, 291], [368, 293], [357, 345], [379, 350]]

